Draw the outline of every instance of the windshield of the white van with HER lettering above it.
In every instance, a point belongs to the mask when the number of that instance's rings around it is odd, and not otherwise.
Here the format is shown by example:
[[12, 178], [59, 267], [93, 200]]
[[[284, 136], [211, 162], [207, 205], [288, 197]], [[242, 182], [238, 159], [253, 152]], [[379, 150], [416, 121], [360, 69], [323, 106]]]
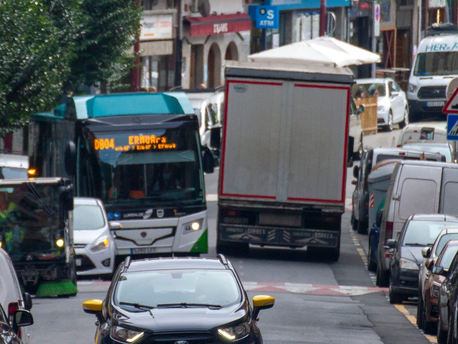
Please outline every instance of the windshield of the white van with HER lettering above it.
[[418, 54], [414, 75], [458, 74], [458, 51]]

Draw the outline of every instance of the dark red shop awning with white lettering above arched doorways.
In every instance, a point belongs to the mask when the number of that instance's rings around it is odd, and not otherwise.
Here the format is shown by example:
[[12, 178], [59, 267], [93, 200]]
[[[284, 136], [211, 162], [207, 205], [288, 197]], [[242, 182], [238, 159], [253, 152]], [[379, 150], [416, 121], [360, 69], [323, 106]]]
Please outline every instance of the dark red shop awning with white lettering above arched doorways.
[[245, 13], [224, 14], [221, 16], [185, 17], [190, 24], [191, 36], [208, 36], [218, 33], [251, 30], [251, 18]]

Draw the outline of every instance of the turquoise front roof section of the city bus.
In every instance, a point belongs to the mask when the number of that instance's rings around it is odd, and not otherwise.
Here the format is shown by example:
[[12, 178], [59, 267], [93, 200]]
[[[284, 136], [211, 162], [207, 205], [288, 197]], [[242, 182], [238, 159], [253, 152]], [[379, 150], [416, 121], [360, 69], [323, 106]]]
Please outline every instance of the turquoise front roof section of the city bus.
[[79, 120], [116, 115], [195, 114], [185, 93], [181, 92], [114, 93], [78, 96], [73, 101]]

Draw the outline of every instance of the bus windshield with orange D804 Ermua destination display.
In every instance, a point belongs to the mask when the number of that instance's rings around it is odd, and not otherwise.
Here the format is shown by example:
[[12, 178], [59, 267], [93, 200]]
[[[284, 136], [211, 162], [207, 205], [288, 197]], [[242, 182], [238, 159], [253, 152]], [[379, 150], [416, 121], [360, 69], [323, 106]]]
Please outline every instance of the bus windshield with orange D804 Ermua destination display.
[[196, 130], [93, 132], [89, 145], [101, 173], [105, 204], [203, 202]]

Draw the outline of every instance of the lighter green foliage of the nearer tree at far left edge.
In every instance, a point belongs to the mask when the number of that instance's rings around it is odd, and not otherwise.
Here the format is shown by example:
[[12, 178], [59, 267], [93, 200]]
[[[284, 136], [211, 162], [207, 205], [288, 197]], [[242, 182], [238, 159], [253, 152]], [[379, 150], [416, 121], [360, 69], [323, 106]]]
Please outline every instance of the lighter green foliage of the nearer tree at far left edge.
[[70, 75], [71, 50], [38, 0], [0, 0], [0, 136], [49, 109]]

